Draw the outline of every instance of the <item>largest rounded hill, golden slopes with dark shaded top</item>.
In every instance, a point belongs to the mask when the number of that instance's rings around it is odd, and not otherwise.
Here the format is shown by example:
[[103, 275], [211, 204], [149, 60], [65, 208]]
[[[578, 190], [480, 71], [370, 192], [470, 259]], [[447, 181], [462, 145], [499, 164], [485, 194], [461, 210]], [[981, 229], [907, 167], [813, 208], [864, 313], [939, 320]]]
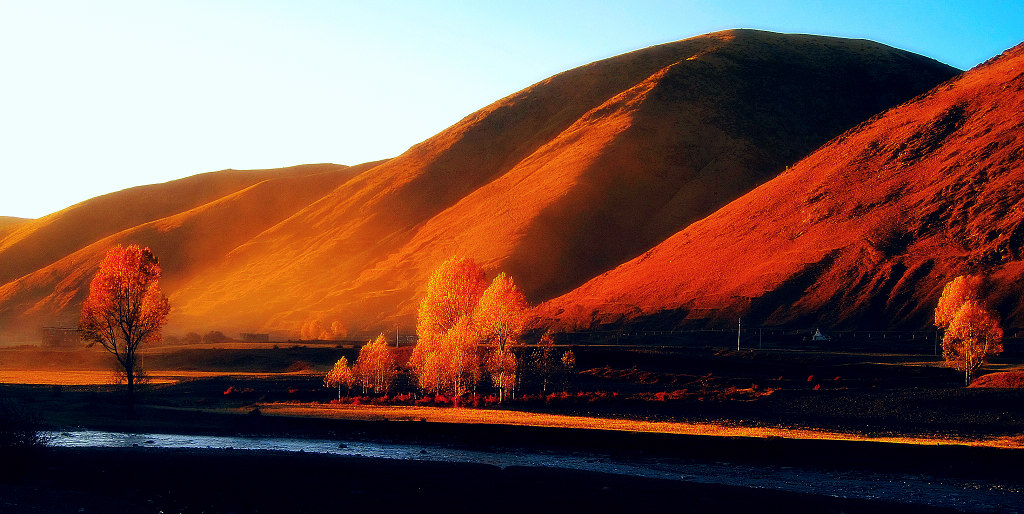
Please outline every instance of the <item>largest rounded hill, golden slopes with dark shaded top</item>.
[[[409, 327], [429, 272], [455, 255], [511, 272], [539, 302], [956, 74], [822, 36], [737, 30], [645, 48], [500, 99], [213, 250], [188, 254], [234, 221], [173, 243], [158, 219], [132, 221], [104, 229], [88, 252], [43, 252], [7, 273], [17, 277], [0, 287], [0, 316], [73, 318], [100, 249], [117, 241], [153, 246], [165, 263], [172, 332], [296, 330], [315, 317], [356, 331]], [[203, 219], [195, 226], [217, 223], [213, 212]]]

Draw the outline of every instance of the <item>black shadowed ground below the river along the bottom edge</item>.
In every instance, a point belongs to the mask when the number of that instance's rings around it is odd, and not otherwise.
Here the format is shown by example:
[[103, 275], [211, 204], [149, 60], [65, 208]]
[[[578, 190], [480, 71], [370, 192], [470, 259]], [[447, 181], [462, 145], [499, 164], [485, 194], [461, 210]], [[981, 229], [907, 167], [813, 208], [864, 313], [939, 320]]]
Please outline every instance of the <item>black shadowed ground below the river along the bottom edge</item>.
[[0, 512], [946, 512], [583, 471], [225, 449], [51, 448]]

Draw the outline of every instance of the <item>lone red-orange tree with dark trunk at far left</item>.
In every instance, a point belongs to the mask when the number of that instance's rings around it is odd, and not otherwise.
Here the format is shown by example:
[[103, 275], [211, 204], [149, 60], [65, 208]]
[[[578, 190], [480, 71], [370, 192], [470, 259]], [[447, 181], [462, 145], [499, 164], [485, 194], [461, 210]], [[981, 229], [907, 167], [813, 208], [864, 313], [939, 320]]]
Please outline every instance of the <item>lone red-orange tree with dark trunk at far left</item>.
[[160, 340], [171, 307], [160, 290], [160, 263], [148, 248], [120, 245], [106, 252], [89, 284], [79, 329], [86, 341], [99, 343], [124, 370], [128, 404], [134, 405], [136, 352]]

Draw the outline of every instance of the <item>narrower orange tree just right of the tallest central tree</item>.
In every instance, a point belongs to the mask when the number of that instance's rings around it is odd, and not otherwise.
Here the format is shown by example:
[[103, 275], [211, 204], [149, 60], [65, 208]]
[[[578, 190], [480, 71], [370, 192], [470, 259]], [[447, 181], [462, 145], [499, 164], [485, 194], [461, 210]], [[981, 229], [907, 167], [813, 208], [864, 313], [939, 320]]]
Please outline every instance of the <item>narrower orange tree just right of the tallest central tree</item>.
[[519, 345], [528, 309], [522, 291], [502, 272], [480, 296], [473, 314], [480, 339], [493, 348], [487, 371], [501, 400], [511, 394], [516, 383], [519, 361], [512, 348]]

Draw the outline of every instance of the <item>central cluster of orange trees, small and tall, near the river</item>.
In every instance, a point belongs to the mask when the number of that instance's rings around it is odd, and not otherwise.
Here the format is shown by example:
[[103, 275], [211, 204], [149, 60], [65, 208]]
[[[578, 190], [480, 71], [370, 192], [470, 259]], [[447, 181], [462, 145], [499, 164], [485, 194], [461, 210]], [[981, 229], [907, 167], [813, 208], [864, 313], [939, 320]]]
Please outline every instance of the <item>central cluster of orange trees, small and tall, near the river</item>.
[[[525, 296], [508, 274], [499, 273], [488, 285], [472, 259], [444, 261], [430, 275], [417, 313], [419, 342], [408, 366], [418, 387], [428, 393], [462, 396], [476, 392], [486, 376], [499, 400], [514, 396], [523, 366], [517, 349], [528, 310]], [[551, 377], [575, 366], [571, 351], [555, 355], [547, 335], [534, 360], [544, 392]], [[342, 357], [325, 384], [338, 388], [339, 397], [343, 385], [354, 383], [383, 392], [395, 372], [394, 357], [381, 335], [362, 347], [351, 368]]]

